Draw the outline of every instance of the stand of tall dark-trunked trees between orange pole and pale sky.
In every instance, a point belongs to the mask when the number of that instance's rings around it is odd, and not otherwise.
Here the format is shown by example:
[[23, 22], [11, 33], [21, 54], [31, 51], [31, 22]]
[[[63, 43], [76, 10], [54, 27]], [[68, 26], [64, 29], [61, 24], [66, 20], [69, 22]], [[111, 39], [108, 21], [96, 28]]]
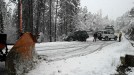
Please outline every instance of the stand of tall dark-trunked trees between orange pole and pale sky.
[[[79, 9], [79, 0], [22, 0], [23, 32], [37, 35], [43, 32], [44, 41], [60, 40], [75, 29], [74, 16]], [[18, 8], [13, 14], [16, 28]], [[19, 29], [17, 29], [19, 32]]]

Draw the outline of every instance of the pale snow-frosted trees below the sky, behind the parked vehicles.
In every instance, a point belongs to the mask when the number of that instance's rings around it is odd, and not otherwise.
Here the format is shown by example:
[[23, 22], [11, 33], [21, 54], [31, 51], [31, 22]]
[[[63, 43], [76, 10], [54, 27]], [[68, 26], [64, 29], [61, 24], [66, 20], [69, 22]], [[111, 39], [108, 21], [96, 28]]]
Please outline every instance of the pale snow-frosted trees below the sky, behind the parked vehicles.
[[86, 31], [102, 30], [105, 26], [114, 26], [114, 20], [110, 20], [107, 16], [102, 16], [102, 11], [97, 13], [88, 12], [87, 7], [80, 8], [78, 14], [75, 16], [76, 29]]

